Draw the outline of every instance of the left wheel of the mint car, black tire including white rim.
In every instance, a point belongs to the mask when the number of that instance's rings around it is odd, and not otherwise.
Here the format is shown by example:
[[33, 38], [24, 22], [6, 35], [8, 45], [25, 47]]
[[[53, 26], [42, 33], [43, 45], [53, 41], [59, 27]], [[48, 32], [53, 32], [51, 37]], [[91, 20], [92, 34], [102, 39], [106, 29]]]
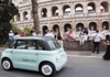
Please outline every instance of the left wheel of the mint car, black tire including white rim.
[[12, 62], [10, 59], [3, 59], [2, 61], [2, 67], [4, 70], [11, 70], [13, 68]]

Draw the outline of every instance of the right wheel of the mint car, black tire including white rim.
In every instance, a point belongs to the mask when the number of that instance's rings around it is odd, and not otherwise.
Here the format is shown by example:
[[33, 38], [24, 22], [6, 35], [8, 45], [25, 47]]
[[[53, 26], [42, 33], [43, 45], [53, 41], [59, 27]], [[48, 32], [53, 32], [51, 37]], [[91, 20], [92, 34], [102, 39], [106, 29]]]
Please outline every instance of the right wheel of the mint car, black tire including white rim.
[[43, 63], [40, 67], [40, 72], [46, 77], [52, 77], [56, 73], [56, 69], [53, 64]]

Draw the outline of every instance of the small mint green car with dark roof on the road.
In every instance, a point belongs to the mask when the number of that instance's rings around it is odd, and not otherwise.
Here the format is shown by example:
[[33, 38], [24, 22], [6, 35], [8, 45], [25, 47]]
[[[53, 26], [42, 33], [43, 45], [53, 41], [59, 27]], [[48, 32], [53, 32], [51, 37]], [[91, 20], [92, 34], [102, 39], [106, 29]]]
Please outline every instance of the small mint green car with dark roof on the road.
[[53, 37], [24, 36], [16, 38], [1, 55], [3, 69], [21, 68], [53, 76], [67, 63], [64, 48]]

